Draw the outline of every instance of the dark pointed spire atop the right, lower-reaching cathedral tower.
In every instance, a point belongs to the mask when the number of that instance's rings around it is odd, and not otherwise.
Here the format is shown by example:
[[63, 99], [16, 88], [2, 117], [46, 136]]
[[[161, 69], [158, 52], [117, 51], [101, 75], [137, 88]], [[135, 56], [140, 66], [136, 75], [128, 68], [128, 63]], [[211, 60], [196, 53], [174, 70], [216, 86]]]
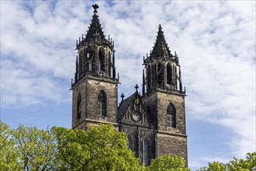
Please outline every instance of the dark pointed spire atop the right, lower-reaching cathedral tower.
[[172, 56], [170, 54], [170, 49], [167, 45], [167, 41], [163, 35], [162, 26], [159, 26], [159, 30], [156, 37], [156, 43], [153, 47], [153, 51], [151, 52], [150, 56]]

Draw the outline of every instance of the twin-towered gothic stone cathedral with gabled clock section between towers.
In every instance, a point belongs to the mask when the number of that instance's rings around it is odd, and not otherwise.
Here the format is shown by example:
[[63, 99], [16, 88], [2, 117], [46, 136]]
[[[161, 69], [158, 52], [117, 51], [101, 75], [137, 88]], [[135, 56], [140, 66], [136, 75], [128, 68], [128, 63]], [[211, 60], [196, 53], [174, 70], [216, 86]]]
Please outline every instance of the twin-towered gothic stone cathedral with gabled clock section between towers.
[[86, 130], [89, 126], [113, 124], [127, 134], [128, 148], [146, 166], [151, 159], [166, 154], [176, 154], [187, 162], [186, 92], [179, 58], [176, 52], [171, 54], [162, 26], [153, 50], [143, 58], [142, 93], [135, 85], [131, 96], [124, 98], [121, 94], [118, 106], [114, 41], [103, 33], [98, 8], [93, 5], [89, 30], [76, 40], [72, 128]]

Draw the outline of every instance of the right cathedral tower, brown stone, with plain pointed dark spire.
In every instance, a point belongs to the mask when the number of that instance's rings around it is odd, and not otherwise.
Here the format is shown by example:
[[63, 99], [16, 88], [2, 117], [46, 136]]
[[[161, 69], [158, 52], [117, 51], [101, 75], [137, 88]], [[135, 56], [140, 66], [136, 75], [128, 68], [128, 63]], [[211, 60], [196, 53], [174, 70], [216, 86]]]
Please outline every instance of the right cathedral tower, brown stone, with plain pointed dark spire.
[[[171, 54], [161, 25], [149, 57], [144, 59], [142, 102], [156, 131], [156, 155], [177, 154], [187, 161], [185, 91], [177, 54]], [[146, 93], [145, 93], [146, 86]]]

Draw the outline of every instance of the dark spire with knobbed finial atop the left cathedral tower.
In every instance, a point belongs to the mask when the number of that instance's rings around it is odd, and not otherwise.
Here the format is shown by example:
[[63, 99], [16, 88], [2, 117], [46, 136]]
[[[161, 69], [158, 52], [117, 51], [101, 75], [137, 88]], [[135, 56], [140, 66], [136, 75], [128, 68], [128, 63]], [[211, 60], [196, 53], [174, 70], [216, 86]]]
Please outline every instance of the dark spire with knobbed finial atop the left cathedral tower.
[[92, 39], [92, 38], [100, 38], [105, 39], [104, 32], [102, 30], [99, 16], [97, 15], [97, 9], [99, 9], [99, 5], [95, 4], [92, 5], [94, 9], [93, 19], [91, 20], [91, 23], [89, 25], [89, 30], [86, 33], [86, 40]]

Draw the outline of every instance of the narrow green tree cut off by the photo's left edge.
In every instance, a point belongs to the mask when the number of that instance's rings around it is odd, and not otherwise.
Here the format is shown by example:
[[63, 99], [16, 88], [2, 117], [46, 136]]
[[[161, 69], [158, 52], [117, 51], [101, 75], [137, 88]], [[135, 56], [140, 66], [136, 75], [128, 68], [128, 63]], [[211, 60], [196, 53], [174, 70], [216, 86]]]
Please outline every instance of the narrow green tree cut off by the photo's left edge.
[[10, 127], [0, 120], [0, 168], [19, 170], [17, 150]]

